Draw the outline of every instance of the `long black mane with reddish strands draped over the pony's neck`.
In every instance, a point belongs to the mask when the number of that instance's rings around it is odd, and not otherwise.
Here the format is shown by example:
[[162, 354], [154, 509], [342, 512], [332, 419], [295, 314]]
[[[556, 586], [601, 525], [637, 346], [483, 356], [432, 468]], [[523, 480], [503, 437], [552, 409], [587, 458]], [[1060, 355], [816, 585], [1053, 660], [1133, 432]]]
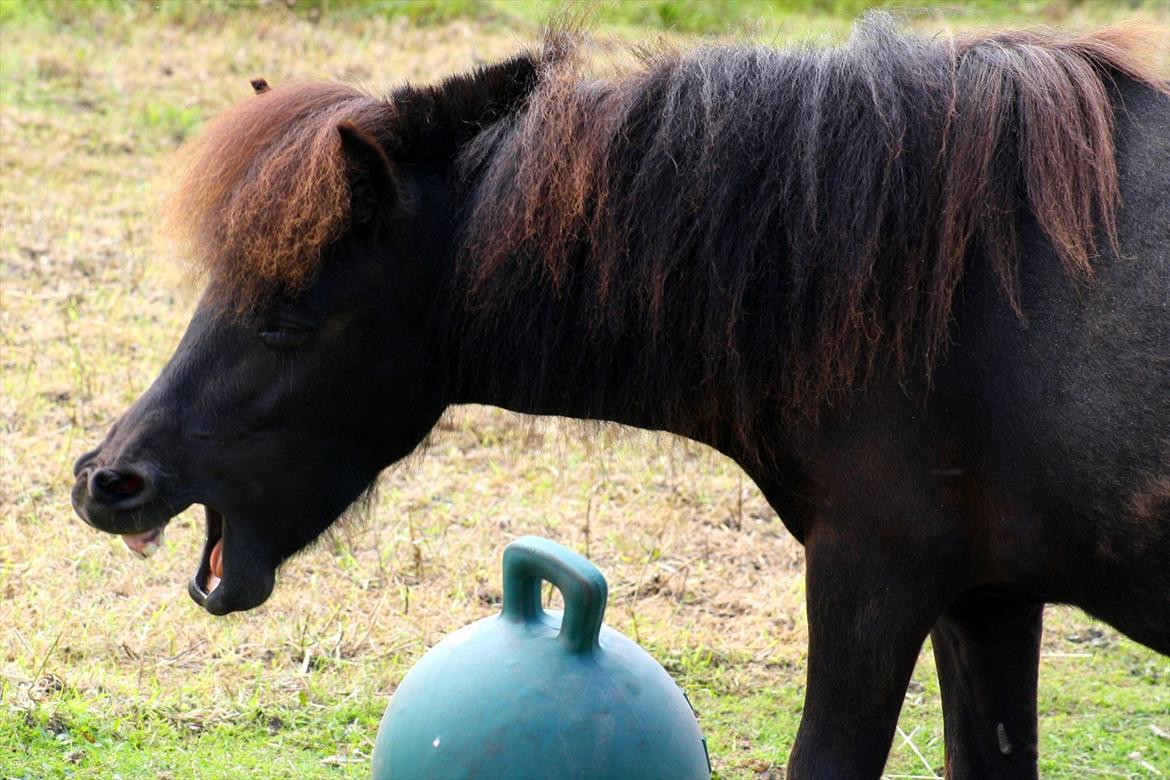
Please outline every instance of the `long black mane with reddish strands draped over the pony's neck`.
[[869, 15], [838, 48], [659, 53], [608, 81], [564, 57], [463, 152], [461, 276], [498, 313], [462, 338], [490, 350], [507, 319], [508, 352], [556, 365], [584, 326], [636, 365], [546, 379], [620, 375], [631, 403], [701, 408], [744, 441], [876, 372], [928, 377], [972, 250], [1018, 305], [1026, 209], [1078, 277], [1094, 229], [1114, 241], [1107, 85], [1165, 91], [1137, 50], [1116, 29], [947, 40]]

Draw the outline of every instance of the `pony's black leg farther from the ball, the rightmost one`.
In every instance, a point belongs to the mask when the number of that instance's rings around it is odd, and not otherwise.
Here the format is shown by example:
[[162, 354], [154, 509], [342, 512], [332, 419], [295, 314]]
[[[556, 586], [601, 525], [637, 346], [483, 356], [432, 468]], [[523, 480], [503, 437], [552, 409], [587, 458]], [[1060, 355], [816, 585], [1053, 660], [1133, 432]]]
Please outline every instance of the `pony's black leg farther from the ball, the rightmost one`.
[[1044, 605], [979, 594], [931, 631], [943, 693], [947, 776], [1037, 774], [1037, 671]]

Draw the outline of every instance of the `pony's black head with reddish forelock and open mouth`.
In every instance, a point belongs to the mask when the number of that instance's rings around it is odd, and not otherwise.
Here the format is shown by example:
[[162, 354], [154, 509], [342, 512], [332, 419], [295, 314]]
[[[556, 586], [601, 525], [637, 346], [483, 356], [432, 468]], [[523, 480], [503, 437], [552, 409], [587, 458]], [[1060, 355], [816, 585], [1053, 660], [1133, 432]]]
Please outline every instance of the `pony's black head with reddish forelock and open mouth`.
[[166, 223], [206, 291], [154, 384], [78, 458], [77, 513], [146, 555], [202, 504], [192, 598], [213, 614], [262, 603], [280, 564], [447, 406], [434, 301], [453, 209], [439, 150], [535, 73], [528, 58], [480, 73], [490, 102], [468, 78], [386, 101], [257, 82], [205, 129]]

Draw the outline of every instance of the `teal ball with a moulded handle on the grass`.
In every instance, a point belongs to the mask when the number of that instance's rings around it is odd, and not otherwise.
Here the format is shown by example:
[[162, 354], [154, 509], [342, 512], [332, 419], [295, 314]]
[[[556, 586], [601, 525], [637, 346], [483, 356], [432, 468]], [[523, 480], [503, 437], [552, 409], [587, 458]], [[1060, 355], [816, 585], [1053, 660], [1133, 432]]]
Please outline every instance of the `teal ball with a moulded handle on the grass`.
[[[564, 613], [541, 607], [541, 584]], [[682, 690], [603, 624], [606, 584], [585, 558], [537, 537], [504, 551], [501, 614], [427, 653], [391, 699], [376, 780], [706, 780], [707, 746]]]

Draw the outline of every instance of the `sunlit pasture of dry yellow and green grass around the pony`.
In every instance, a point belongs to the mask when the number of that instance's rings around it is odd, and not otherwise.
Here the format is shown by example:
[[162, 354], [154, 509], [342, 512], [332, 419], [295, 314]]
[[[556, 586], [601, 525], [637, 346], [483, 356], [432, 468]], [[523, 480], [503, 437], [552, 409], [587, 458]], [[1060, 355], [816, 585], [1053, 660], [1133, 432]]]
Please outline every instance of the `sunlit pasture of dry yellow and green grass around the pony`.
[[[552, 7], [243, 5], [0, 0], [0, 779], [367, 776], [395, 684], [498, 609], [501, 551], [524, 533], [605, 571], [607, 621], [689, 692], [717, 776], [783, 776], [804, 684], [801, 550], [701, 447], [456, 409], [367, 509], [284, 566], [264, 607], [228, 619], [186, 595], [200, 512], [146, 562], [75, 518], [73, 460], [145, 389], [193, 308], [151, 239], [168, 153], [252, 76], [381, 92], [531, 43]], [[601, 4], [597, 36], [840, 36], [863, 5]], [[1131, 16], [1170, 37], [1161, 0], [956, 2], [909, 19]], [[1170, 660], [1067, 608], [1048, 610], [1044, 642], [1042, 774], [1170, 776]], [[928, 644], [887, 772], [942, 764]]]

